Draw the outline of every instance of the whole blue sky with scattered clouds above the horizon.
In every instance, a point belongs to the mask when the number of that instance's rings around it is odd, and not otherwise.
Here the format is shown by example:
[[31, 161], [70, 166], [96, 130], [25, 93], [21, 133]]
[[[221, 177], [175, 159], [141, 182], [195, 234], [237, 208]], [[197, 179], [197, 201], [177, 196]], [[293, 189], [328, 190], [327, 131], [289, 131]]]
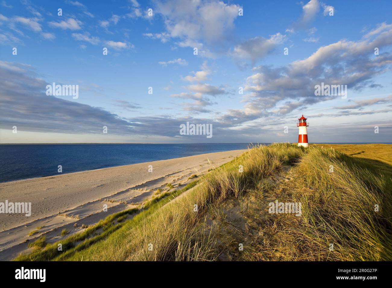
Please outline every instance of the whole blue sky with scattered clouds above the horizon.
[[[391, 11], [389, 0], [0, 0], [0, 143], [297, 142], [302, 114], [309, 143], [390, 143]], [[48, 94], [52, 83], [78, 85], [77, 97]], [[347, 94], [316, 95], [321, 83]], [[187, 122], [212, 137], [181, 134]]]

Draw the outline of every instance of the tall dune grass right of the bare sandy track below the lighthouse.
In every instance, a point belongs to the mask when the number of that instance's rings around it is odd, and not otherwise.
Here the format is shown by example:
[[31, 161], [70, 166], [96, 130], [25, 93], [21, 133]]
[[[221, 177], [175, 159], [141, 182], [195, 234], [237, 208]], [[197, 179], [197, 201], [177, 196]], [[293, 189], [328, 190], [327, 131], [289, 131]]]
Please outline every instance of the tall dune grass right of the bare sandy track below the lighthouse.
[[392, 260], [392, 181], [385, 169], [316, 147], [294, 168], [278, 197], [302, 203], [301, 217], [279, 214], [271, 225], [278, 227], [275, 243], [252, 247], [249, 260], [278, 253], [289, 261]]

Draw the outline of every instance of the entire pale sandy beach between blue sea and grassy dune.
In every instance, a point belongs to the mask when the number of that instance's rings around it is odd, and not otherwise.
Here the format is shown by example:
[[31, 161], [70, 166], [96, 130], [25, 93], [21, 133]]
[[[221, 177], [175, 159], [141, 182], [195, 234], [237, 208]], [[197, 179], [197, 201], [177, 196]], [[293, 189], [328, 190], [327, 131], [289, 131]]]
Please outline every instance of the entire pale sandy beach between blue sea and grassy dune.
[[[167, 183], [188, 183], [192, 174], [204, 174], [245, 151], [208, 153], [0, 183], [0, 202], [31, 202], [29, 217], [0, 214], [0, 260], [9, 260], [26, 250], [27, 245], [18, 245], [22, 242], [42, 234], [50, 236], [60, 227], [72, 227], [76, 221], [94, 224], [111, 213], [142, 203], [158, 188], [169, 189]], [[149, 165], [152, 172], [148, 172]], [[103, 204], [107, 205], [107, 212], [102, 211]], [[29, 236], [36, 227], [42, 228]]]

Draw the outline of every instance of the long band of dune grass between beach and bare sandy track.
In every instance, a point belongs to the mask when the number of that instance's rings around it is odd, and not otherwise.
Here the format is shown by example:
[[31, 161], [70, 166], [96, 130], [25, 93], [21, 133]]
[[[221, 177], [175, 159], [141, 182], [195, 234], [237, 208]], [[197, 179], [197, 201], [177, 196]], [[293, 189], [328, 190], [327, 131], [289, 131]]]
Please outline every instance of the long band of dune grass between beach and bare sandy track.
[[[296, 161], [302, 153], [302, 149], [289, 144], [249, 150], [201, 177], [194, 189], [151, 213], [136, 215], [104, 241], [56, 260], [214, 260], [217, 256], [214, 239], [202, 232], [203, 215], [209, 206], [228, 196], [240, 197], [260, 178]], [[239, 165], [243, 166], [243, 172]]]

